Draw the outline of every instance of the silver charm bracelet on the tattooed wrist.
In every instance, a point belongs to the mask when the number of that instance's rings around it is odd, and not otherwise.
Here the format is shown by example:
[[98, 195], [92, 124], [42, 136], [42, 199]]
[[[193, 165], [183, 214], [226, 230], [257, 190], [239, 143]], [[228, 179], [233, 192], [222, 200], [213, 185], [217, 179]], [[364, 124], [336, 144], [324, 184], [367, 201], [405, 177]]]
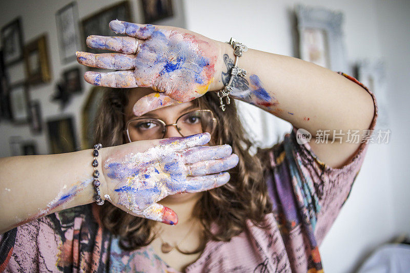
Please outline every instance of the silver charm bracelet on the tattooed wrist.
[[235, 41], [235, 38], [231, 38], [231, 40], [227, 43], [232, 45], [234, 49], [235, 63], [231, 69], [231, 78], [229, 79], [229, 82], [223, 87], [222, 90], [218, 91], [218, 97], [219, 97], [219, 103], [220, 103], [219, 108], [222, 109], [222, 111], [225, 111], [225, 106], [226, 106], [225, 104], [223, 104], [223, 100], [222, 100], [223, 97], [226, 97], [227, 104], [231, 103], [231, 99], [229, 98], [228, 95], [232, 91], [231, 85], [232, 85], [234, 76], [242, 76], [242, 77], [247, 76], [247, 71], [242, 68], [237, 67], [236, 65], [238, 64], [239, 57], [242, 57], [243, 52], [248, 51], [248, 47]]

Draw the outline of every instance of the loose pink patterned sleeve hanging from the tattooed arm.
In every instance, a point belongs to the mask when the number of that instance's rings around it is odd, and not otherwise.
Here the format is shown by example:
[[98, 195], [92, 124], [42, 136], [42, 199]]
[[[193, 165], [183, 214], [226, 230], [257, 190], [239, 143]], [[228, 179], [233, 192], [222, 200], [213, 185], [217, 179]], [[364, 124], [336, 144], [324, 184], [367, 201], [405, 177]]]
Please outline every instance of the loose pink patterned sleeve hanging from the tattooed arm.
[[[369, 130], [374, 130], [377, 103], [374, 94], [355, 78], [340, 75], [362, 86], [373, 98], [375, 113]], [[370, 131], [371, 132], [371, 131]], [[297, 128], [284, 140], [261, 153], [269, 162], [265, 179], [273, 213], [293, 265], [309, 261], [308, 268], [321, 270], [318, 247], [338, 216], [359, 174], [369, 141], [360, 144], [350, 162], [340, 169], [322, 162], [309, 142], [297, 142]], [[294, 271], [299, 271], [297, 267]]]

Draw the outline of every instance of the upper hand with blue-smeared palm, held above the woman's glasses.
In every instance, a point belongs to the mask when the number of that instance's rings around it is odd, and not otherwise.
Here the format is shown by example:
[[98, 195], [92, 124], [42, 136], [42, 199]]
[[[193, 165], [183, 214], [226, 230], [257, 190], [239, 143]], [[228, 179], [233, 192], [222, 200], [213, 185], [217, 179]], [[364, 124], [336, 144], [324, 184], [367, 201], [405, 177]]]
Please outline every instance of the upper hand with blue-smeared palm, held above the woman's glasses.
[[110, 28], [124, 37], [89, 36], [87, 45], [119, 53], [77, 52], [80, 64], [118, 71], [86, 72], [87, 82], [114, 88], [149, 87], [158, 91], [140, 99], [137, 116], [212, 91], [222, 70], [224, 43], [175, 27], [139, 25], [119, 20]]

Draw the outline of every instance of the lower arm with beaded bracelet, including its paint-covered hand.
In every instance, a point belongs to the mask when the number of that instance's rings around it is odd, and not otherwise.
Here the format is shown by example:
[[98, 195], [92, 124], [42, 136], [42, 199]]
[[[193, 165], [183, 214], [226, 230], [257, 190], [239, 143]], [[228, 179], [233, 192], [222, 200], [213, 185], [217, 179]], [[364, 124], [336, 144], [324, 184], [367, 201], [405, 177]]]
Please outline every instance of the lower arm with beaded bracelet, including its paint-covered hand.
[[[135, 216], [176, 224], [176, 214], [157, 202], [223, 185], [230, 176], [220, 172], [238, 162], [229, 145], [201, 146], [209, 140], [204, 133], [100, 149], [101, 198]], [[93, 202], [92, 151], [0, 159], [0, 234]]]

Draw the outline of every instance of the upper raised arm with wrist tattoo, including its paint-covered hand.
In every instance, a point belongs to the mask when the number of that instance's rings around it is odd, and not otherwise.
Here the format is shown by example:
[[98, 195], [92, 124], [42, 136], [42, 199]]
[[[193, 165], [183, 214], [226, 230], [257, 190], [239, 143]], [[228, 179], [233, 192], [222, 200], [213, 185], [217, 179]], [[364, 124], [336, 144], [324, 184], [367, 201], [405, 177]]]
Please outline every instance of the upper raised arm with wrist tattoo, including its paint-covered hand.
[[[94, 85], [158, 91], [136, 102], [133, 110], [137, 116], [218, 92], [230, 78], [234, 54], [229, 44], [173, 27], [114, 20], [110, 28], [129, 37], [90, 36], [87, 44], [120, 53], [79, 52], [77, 60], [91, 67], [119, 70], [87, 72], [85, 79]], [[309, 131], [313, 139], [318, 130], [341, 132], [341, 143], [311, 141], [314, 152], [330, 166], [341, 166], [354, 156], [362, 136], [358, 143], [348, 143], [346, 133], [368, 129], [375, 114], [374, 101], [364, 88], [311, 62], [253, 49], [244, 52], [238, 67], [246, 70], [247, 76], [233, 76], [231, 97]]]

